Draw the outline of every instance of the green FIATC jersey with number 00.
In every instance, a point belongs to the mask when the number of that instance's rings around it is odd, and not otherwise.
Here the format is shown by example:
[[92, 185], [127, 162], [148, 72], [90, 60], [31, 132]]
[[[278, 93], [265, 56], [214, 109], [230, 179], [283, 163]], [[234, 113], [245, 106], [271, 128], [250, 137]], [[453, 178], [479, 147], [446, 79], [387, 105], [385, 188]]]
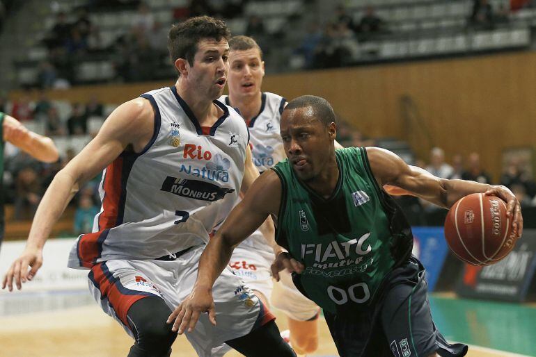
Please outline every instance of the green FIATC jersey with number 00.
[[375, 300], [386, 275], [411, 255], [413, 237], [400, 208], [372, 175], [364, 148], [336, 150], [339, 178], [324, 199], [288, 160], [273, 167], [283, 193], [276, 241], [305, 265], [299, 290], [336, 313]]

